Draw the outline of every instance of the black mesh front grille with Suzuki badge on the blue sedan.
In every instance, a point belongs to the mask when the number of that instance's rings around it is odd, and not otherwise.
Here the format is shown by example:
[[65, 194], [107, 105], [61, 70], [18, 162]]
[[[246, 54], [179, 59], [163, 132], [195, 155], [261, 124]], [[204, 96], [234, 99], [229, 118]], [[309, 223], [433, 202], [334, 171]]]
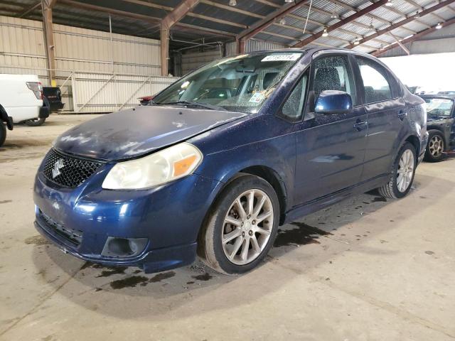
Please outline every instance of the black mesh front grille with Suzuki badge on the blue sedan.
[[87, 161], [51, 149], [45, 157], [43, 174], [58, 185], [75, 188], [97, 171], [102, 163]]

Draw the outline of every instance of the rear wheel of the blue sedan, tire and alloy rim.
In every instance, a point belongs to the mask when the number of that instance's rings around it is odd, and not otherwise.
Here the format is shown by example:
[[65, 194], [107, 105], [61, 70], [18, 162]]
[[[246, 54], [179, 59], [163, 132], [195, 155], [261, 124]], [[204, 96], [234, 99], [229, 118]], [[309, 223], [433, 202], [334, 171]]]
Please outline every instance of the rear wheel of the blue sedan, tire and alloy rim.
[[409, 142], [403, 144], [392, 165], [389, 180], [385, 185], [378, 188], [380, 195], [392, 199], [399, 199], [407, 195], [414, 181], [415, 168], [417, 167], [416, 155], [412, 144]]

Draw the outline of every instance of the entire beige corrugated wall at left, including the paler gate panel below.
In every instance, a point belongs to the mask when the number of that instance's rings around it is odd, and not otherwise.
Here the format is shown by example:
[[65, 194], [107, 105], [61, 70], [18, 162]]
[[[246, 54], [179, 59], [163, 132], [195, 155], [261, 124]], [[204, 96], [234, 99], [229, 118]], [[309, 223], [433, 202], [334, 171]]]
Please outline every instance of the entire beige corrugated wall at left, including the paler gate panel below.
[[[54, 36], [56, 81], [67, 111], [132, 107], [137, 97], [155, 94], [176, 80], [160, 76], [159, 40], [114, 33], [111, 45], [107, 32], [57, 24]], [[42, 23], [0, 16], [0, 73], [38, 75], [48, 85], [46, 66]]]

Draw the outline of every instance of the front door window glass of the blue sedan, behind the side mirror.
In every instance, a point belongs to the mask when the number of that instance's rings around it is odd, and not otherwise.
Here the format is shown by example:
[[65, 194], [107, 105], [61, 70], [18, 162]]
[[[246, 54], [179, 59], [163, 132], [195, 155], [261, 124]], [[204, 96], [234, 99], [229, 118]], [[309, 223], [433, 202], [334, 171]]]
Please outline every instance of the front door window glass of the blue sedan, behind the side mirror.
[[313, 90], [315, 99], [325, 90], [347, 92], [355, 105], [355, 86], [348, 58], [344, 55], [333, 55], [316, 60], [314, 62]]

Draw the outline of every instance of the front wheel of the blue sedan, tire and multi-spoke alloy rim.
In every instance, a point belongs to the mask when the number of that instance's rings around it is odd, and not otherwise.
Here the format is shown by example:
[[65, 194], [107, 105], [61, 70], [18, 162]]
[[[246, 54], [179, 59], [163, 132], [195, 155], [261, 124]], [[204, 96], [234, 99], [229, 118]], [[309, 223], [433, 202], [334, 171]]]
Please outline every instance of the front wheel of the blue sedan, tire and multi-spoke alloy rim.
[[200, 258], [223, 274], [245, 274], [254, 269], [274, 243], [279, 212], [272, 185], [255, 175], [238, 176], [228, 183], [208, 212], [198, 240]]

